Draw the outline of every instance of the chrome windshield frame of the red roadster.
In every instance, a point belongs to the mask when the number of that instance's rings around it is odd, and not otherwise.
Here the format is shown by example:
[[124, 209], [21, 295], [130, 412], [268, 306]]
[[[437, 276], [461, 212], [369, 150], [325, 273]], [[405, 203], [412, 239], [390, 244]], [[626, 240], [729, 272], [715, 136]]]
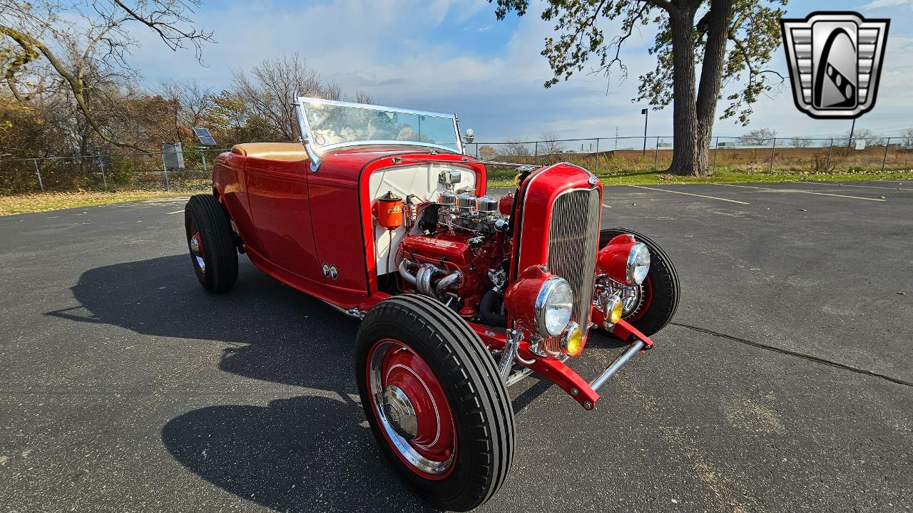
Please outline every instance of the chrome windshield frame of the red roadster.
[[[308, 117], [305, 115], [305, 104], [333, 105], [337, 107], [351, 107], [354, 109], [364, 110], [385, 110], [388, 112], [415, 114], [419, 116], [430, 116], [434, 118], [452, 120], [454, 125], [454, 132], [456, 134], [456, 144], [459, 146], [459, 148], [455, 150], [449, 146], [420, 141], [346, 141], [327, 144], [318, 148], [311, 140], [310, 123], [308, 122]], [[320, 168], [320, 162], [323, 160], [323, 155], [326, 152], [331, 150], [338, 150], [341, 148], [351, 148], [356, 146], [419, 146], [423, 148], [432, 148], [436, 151], [455, 153], [457, 155], [464, 154], [465, 152], [463, 138], [460, 137], [459, 134], [459, 125], [457, 124], [458, 121], [456, 120], [456, 114], [429, 112], [425, 110], [401, 109], [399, 107], [386, 107], [383, 105], [369, 105], [365, 103], [353, 103], [351, 101], [337, 101], [334, 99], [309, 98], [304, 96], [300, 96], [295, 99], [295, 113], [298, 116], [299, 130], [301, 131], [301, 137], [299, 138], [299, 141], [302, 145], [304, 145], [305, 151], [308, 152], [308, 158], [310, 160], [310, 171], [313, 173], [317, 173], [318, 168]]]

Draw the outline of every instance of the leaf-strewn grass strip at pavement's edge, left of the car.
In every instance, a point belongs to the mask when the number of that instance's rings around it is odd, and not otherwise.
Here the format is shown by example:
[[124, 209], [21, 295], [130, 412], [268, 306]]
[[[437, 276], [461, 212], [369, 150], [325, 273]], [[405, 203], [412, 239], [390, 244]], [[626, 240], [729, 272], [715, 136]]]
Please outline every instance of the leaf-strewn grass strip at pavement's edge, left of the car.
[[47, 212], [96, 204], [122, 203], [194, 194], [187, 191], [116, 191], [110, 193], [37, 193], [0, 196], [0, 215]]

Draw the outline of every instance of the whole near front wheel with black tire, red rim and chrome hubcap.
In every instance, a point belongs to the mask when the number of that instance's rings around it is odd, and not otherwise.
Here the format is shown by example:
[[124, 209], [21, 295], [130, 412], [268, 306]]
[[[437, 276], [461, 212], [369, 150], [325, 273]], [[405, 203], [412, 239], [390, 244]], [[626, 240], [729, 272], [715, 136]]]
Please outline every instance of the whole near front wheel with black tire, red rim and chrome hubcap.
[[384, 300], [358, 330], [355, 373], [384, 455], [426, 501], [466, 511], [504, 484], [514, 453], [510, 398], [453, 310], [419, 295]]

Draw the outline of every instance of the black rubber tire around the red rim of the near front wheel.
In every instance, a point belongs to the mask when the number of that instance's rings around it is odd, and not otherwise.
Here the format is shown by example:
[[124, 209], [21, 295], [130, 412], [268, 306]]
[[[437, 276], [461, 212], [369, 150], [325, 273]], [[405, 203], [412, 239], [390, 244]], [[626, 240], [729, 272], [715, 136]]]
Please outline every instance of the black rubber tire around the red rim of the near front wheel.
[[[414, 295], [410, 295], [409, 297], [420, 298]], [[399, 296], [394, 298], [394, 300], [398, 298], [403, 297]], [[421, 300], [425, 300], [425, 298], [421, 298]], [[428, 300], [430, 301], [433, 299]], [[391, 300], [388, 299], [387, 301]], [[442, 309], [445, 308], [443, 305], [441, 305], [441, 307]], [[372, 310], [372, 312], [373, 311], [374, 310]], [[509, 470], [513, 454], [513, 410], [509, 403], [507, 389], [495, 370], [494, 361], [491, 359], [488, 351], [485, 350], [481, 340], [478, 340], [477, 336], [474, 337], [475, 340], [447, 340], [444, 333], [436, 332], [436, 330], [433, 329], [428, 330], [429, 324], [423, 323], [421, 319], [415, 319], [415, 322], [397, 321], [401, 315], [404, 315], [405, 317], [418, 315], [418, 312], [415, 310], [409, 311], [402, 305], [394, 305], [393, 309], [380, 311], [378, 313], [382, 315], [366, 318], [365, 321], [362, 322], [362, 329], [359, 330], [358, 335], [358, 347], [356, 349], [355, 358], [358, 389], [361, 395], [362, 405], [365, 409], [365, 414], [368, 417], [369, 424], [371, 424], [374, 436], [377, 438], [379, 445], [381, 445], [387, 459], [397, 469], [401, 476], [404, 477], [404, 480], [410, 487], [413, 487], [419, 495], [425, 497], [425, 500], [446, 509], [467, 510], [476, 508], [478, 505], [485, 502], [485, 500], [488, 500], [488, 497], [491, 497], [494, 491], [500, 486], [500, 483], [496, 483], [494, 489], [490, 490], [489, 493], [478, 494], [472, 490], [473, 483], [477, 482], [478, 479], [477, 472], [479, 466], [489, 464], [490, 462], [488, 460], [492, 457], [492, 455], [474, 450], [474, 447], [478, 446], [477, 438], [478, 430], [480, 429], [478, 426], [473, 425], [473, 417], [477, 415], [474, 406], [477, 407], [479, 401], [502, 401], [505, 403], [501, 406], [506, 406], [509, 414], [509, 419], [504, 419], [509, 422], [509, 446], [500, 447], [498, 450], [509, 451], [506, 463], [508, 468], [506, 470]], [[452, 315], [453, 317], [456, 317], [456, 314]], [[371, 316], [371, 313], [369, 313], [369, 316]], [[454, 319], [446, 319], [446, 321], [454, 321]], [[465, 321], [458, 317], [456, 317], [456, 321], [465, 324]], [[475, 333], [473, 333], [473, 335], [475, 335]], [[407, 466], [400, 459], [394, 448], [386, 441], [385, 434], [383, 434], [383, 428], [378, 423], [377, 415], [373, 411], [373, 399], [368, 390], [367, 365], [371, 349], [378, 341], [383, 339], [398, 340], [408, 346], [412, 351], [415, 351], [415, 353], [425, 361], [431, 371], [435, 373], [438, 382], [440, 382], [441, 387], [444, 390], [447, 402], [449, 403], [454, 417], [454, 427], [456, 429], [456, 458], [454, 459], [453, 467], [449, 474], [442, 479], [432, 480], [416, 474], [412, 468]], [[443, 344], [441, 343], [442, 341], [444, 342]], [[456, 351], [456, 348], [453, 347], [453, 344], [455, 343], [477, 344], [478, 348], [485, 352], [482, 356], [490, 361], [488, 371], [491, 373], [488, 374], [488, 379], [479, 380], [478, 378], [480, 376], [476, 376], [474, 379], [471, 375], [474, 372], [467, 372], [470, 371], [467, 369], [469, 364], [467, 364], [467, 362], [461, 363], [459, 361], [457, 354], [460, 351]], [[469, 375], [467, 376], [467, 374]], [[466, 376], [467, 380], [464, 381], [472, 382], [474, 388], [488, 388], [488, 390], [479, 390], [479, 393], [483, 396], [493, 397], [480, 398], [476, 394], [467, 395], [465, 390], [463, 393], [460, 393], [459, 389], [465, 388], [466, 383], [459, 384], [448, 379], [448, 376], [454, 375]], [[493, 419], [488, 419], [488, 421], [490, 424]], [[474, 440], [474, 434], [476, 435], [476, 440]], [[497, 479], [498, 476], [495, 476], [495, 478]], [[476, 497], [478, 495], [483, 497]]]

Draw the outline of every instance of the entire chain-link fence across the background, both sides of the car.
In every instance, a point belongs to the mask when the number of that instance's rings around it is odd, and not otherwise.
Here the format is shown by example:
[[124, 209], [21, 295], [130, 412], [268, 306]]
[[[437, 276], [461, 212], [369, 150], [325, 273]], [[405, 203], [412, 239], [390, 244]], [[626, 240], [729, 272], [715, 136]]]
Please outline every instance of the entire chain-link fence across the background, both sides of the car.
[[[209, 188], [215, 156], [226, 149], [185, 149], [184, 167], [166, 168], [163, 154], [116, 153], [0, 160], [0, 194], [79, 190]], [[663, 171], [675, 151], [671, 136], [609, 137], [467, 144], [479, 159], [530, 164], [573, 162], [598, 173]], [[743, 173], [874, 173], [913, 169], [913, 138], [713, 137], [711, 169]], [[492, 166], [491, 178], [513, 171]], [[504, 176], [501, 176], [503, 174]]]

